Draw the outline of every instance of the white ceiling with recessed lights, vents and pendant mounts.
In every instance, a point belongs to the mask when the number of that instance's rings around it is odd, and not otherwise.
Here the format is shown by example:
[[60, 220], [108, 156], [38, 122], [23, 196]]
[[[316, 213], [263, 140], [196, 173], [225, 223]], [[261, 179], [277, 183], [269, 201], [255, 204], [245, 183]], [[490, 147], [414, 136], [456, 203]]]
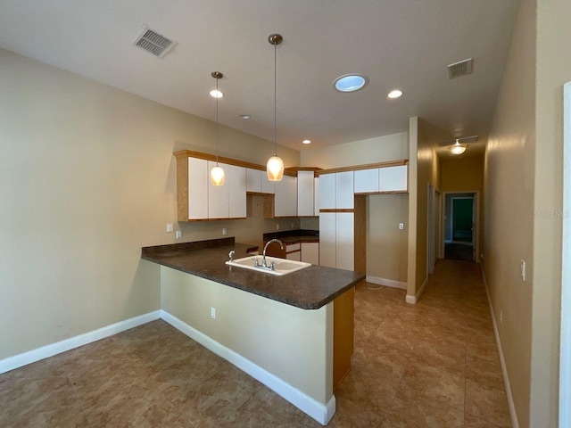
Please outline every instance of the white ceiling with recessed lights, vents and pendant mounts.
[[[211, 71], [224, 73], [219, 121], [296, 150], [408, 130], [489, 132], [517, 0], [3, 0], [0, 47], [215, 120]], [[147, 25], [178, 45], [162, 59], [133, 45]], [[474, 59], [450, 79], [446, 66]], [[352, 94], [347, 73], [368, 77]], [[404, 95], [387, 98], [394, 88]], [[250, 114], [251, 119], [240, 119]], [[310, 145], [302, 144], [310, 139]], [[476, 146], [478, 145], [476, 144]], [[476, 147], [468, 148], [467, 153]], [[446, 149], [443, 149], [445, 152]]]

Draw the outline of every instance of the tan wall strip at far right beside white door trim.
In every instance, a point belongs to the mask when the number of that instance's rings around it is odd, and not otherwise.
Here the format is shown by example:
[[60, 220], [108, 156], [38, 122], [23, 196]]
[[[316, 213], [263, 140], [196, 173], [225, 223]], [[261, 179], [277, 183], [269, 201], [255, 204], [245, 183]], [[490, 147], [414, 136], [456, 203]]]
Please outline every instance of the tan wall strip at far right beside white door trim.
[[562, 221], [550, 213], [563, 210], [563, 85], [571, 80], [566, 43], [571, 39], [571, 2], [538, 1], [537, 6], [530, 426], [556, 426]]

